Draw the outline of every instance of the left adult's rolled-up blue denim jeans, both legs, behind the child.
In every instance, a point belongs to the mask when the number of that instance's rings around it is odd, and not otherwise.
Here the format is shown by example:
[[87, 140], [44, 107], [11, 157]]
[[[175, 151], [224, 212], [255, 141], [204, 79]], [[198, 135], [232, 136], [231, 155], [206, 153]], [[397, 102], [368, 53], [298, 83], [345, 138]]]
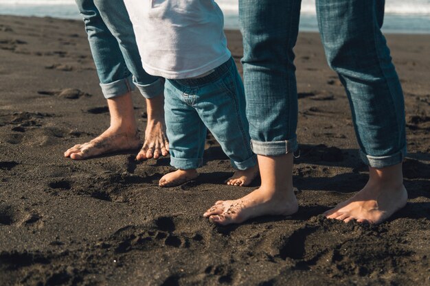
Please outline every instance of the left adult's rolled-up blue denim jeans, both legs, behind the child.
[[146, 98], [160, 95], [164, 80], [144, 71], [124, 1], [76, 0], [76, 4], [104, 97], [124, 95], [133, 90], [133, 83]]

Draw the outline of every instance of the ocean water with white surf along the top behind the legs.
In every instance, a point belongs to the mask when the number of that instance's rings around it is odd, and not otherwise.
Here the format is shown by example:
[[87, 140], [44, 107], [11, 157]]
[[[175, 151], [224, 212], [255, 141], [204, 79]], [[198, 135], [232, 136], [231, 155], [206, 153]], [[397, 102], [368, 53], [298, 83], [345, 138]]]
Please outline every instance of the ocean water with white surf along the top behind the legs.
[[[224, 12], [225, 27], [237, 29], [238, 0], [216, 0], [216, 2]], [[81, 19], [74, 0], [0, 0], [1, 14]], [[313, 32], [318, 30], [315, 14], [315, 0], [302, 0], [300, 30]], [[430, 0], [385, 1], [383, 31], [430, 34]]]

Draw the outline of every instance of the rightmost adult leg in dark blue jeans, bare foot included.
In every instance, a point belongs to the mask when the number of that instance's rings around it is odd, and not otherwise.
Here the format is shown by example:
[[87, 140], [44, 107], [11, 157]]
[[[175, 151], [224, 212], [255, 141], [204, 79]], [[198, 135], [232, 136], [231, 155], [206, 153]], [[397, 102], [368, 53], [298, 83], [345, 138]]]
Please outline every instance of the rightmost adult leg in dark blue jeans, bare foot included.
[[[406, 153], [403, 91], [383, 34], [384, 1], [319, 0], [317, 16], [330, 67], [350, 100], [369, 181], [326, 217], [378, 224], [407, 202], [402, 160]], [[348, 25], [339, 25], [348, 23]]]

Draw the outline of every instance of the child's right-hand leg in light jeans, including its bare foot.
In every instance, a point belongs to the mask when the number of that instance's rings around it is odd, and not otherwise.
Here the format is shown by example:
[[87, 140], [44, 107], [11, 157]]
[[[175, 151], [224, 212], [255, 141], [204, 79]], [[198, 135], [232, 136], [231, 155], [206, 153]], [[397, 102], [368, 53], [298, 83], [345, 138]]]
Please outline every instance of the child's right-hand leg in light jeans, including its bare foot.
[[199, 86], [192, 106], [237, 169], [227, 184], [247, 186], [258, 176], [258, 165], [245, 116], [245, 91], [233, 58], [192, 82]]

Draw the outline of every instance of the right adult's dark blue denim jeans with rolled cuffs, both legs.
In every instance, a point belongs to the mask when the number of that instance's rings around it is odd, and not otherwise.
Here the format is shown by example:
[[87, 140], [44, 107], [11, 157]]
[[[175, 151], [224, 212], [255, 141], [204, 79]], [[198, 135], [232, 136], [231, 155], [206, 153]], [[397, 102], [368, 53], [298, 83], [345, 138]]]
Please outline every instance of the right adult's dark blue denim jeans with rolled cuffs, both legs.
[[[240, 0], [247, 117], [253, 152], [297, 150], [293, 47], [300, 0]], [[346, 88], [361, 158], [371, 167], [401, 163], [406, 153], [403, 91], [381, 33], [383, 0], [317, 0], [328, 64]]]

